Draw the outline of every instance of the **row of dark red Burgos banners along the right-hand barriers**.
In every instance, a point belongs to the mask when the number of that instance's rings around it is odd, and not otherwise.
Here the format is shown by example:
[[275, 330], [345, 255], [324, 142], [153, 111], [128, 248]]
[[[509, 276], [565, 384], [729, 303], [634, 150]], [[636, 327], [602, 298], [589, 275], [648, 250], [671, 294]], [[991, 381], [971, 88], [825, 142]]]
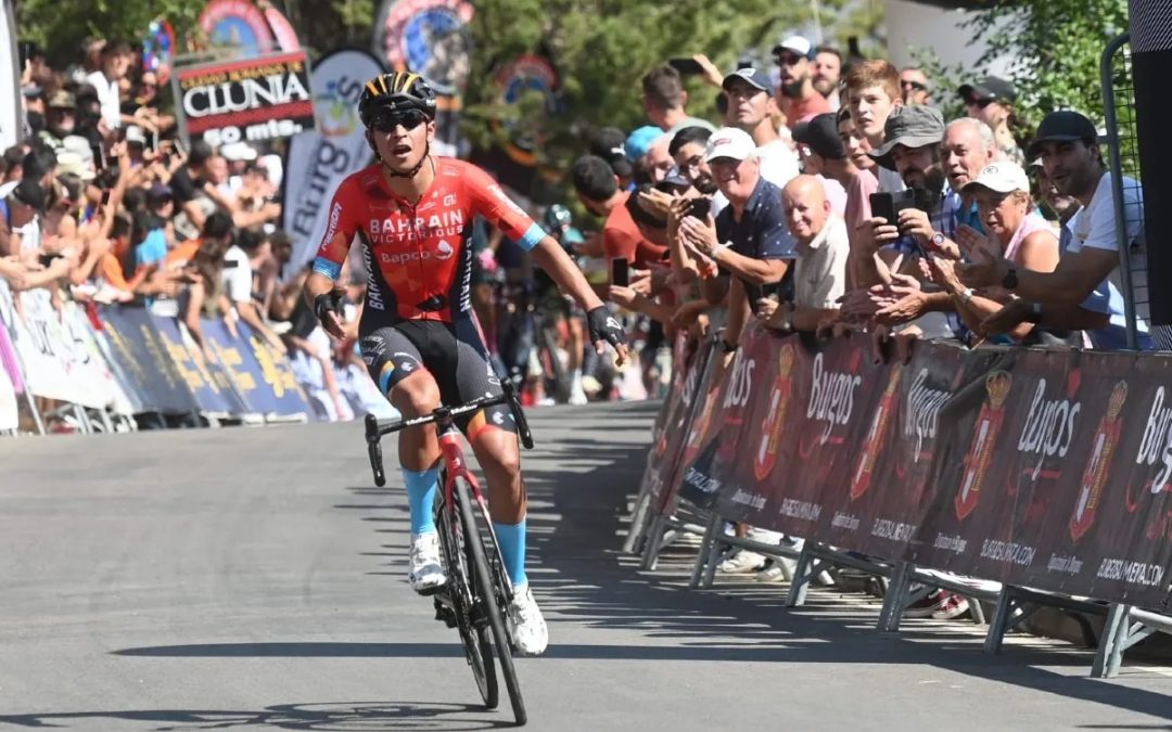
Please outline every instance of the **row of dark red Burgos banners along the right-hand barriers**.
[[1168, 609], [1170, 383], [1153, 355], [919, 343], [878, 364], [866, 336], [751, 324], [718, 408], [695, 410], [680, 490], [844, 549]]

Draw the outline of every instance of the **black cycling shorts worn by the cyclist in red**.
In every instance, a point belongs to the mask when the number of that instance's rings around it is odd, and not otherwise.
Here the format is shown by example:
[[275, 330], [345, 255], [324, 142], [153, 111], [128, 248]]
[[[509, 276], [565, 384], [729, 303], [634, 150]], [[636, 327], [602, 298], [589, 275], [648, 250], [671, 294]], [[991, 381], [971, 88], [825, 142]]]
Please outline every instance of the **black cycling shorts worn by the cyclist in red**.
[[[451, 323], [404, 320], [369, 331], [363, 329], [360, 349], [370, 378], [384, 395], [418, 369], [425, 369], [436, 379], [440, 398], [448, 406], [503, 394], [479, 328], [471, 319]], [[464, 415], [456, 426], [469, 437], [484, 426], [517, 431], [507, 404]]]

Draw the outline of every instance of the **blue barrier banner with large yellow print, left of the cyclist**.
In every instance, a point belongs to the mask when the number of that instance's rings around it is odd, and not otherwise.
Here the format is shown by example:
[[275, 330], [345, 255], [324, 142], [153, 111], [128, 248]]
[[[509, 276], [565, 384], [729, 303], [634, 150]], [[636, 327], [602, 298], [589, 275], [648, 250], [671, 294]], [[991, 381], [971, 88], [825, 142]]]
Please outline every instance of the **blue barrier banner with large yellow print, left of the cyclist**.
[[224, 321], [203, 319], [204, 336], [232, 385], [253, 411], [261, 415], [309, 415], [288, 358], [257, 337], [246, 323], [237, 323], [232, 337]]

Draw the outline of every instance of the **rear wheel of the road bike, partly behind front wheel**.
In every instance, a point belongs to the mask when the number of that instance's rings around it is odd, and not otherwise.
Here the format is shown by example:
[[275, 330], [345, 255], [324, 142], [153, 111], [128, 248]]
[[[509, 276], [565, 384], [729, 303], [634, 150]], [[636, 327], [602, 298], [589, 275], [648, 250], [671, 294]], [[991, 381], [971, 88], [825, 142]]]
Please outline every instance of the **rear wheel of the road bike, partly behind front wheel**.
[[[444, 481], [441, 480], [440, 485]], [[500, 704], [500, 690], [497, 683], [496, 664], [492, 659], [492, 644], [489, 642], [489, 623], [477, 622], [476, 591], [470, 576], [468, 546], [478, 545], [478, 536], [469, 541], [462, 519], [456, 512], [449, 512], [442, 504], [442, 494], [436, 499], [436, 526], [440, 527], [440, 545], [448, 572], [447, 586], [441, 593], [447, 593], [451, 611], [456, 617], [456, 631], [464, 647], [464, 659], [472, 670], [472, 678], [481, 692], [485, 709], [497, 709]]]

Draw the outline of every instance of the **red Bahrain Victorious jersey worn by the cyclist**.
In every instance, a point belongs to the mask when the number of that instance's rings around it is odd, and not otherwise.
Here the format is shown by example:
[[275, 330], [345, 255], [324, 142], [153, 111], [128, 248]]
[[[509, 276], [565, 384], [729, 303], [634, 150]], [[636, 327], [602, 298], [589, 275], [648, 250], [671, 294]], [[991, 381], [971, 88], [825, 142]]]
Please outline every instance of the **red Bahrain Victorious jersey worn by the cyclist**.
[[470, 163], [432, 158], [435, 180], [417, 203], [396, 196], [382, 165], [348, 176], [329, 204], [329, 224], [313, 271], [338, 280], [357, 235], [369, 281], [363, 317], [470, 317], [472, 219], [484, 217], [525, 249], [545, 238], [492, 178]]

